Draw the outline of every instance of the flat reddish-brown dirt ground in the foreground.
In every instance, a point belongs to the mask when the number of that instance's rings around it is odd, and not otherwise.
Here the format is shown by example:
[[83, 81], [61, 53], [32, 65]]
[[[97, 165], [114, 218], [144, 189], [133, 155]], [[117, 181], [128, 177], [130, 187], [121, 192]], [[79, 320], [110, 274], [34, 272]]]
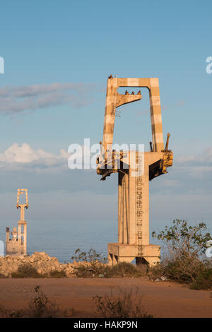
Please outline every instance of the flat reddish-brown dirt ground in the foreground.
[[212, 317], [212, 292], [146, 278], [0, 279], [0, 304], [11, 310], [27, 307], [36, 285], [70, 316], [74, 310], [73, 317], [95, 317], [93, 296], [110, 295], [111, 290], [115, 294], [119, 288], [137, 289], [143, 307], [154, 317]]

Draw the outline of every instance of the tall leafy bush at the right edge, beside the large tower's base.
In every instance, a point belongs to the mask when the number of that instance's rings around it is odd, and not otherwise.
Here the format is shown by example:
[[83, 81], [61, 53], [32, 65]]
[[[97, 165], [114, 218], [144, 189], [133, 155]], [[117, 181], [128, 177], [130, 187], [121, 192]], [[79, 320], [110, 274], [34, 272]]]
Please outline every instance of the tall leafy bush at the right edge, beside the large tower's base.
[[203, 259], [203, 254], [211, 235], [206, 224], [190, 226], [186, 220], [177, 219], [152, 236], [162, 240], [166, 249], [165, 259], [151, 270], [152, 275], [165, 275], [179, 283], [194, 283], [199, 275], [208, 271], [210, 262]]

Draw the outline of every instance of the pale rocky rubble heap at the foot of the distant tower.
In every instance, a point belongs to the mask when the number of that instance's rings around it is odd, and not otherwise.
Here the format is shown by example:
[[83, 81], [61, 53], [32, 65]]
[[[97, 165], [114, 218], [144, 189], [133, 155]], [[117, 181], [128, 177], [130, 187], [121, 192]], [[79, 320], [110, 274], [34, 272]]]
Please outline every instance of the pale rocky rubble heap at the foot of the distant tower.
[[11, 273], [17, 272], [20, 266], [30, 264], [37, 273], [48, 276], [53, 271], [64, 271], [67, 277], [74, 277], [74, 267], [78, 264], [59, 263], [56, 257], [51, 257], [45, 252], [35, 252], [31, 256], [0, 256], [0, 276], [11, 277]]

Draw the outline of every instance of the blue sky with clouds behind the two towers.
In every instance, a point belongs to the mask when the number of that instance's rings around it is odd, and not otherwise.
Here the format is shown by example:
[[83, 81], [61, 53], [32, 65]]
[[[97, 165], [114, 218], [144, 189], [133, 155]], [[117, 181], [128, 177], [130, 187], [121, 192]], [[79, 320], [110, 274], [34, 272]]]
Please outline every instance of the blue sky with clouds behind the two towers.
[[[159, 78], [163, 131], [171, 133], [175, 161], [151, 183], [152, 224], [188, 218], [212, 228], [211, 11], [211, 1], [1, 2], [2, 218], [16, 218], [18, 187], [29, 189], [31, 218], [116, 218], [116, 175], [102, 184], [95, 171], [68, 170], [60, 155], [83, 138], [102, 140], [112, 73]], [[142, 94], [140, 102], [120, 108], [117, 143], [151, 140], [148, 93]], [[5, 160], [14, 143], [28, 144], [31, 156], [38, 149], [53, 155], [54, 165], [39, 153], [28, 162]]]

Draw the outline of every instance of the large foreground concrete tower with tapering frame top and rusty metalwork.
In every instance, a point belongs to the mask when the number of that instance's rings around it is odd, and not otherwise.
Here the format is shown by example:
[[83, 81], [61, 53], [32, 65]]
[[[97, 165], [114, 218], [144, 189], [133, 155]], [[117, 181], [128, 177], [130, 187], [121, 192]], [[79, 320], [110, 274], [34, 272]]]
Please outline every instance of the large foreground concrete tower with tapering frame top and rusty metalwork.
[[[114, 120], [117, 107], [141, 100], [137, 94], [118, 93], [120, 87], [148, 88], [152, 142], [148, 152], [116, 151], [112, 148]], [[121, 261], [149, 263], [160, 261], [160, 247], [149, 243], [149, 181], [167, 173], [172, 166], [173, 153], [164, 148], [158, 78], [117, 78], [107, 80], [105, 121], [102, 151], [97, 158], [97, 172], [102, 180], [118, 173], [118, 242], [108, 244], [109, 264]]]

